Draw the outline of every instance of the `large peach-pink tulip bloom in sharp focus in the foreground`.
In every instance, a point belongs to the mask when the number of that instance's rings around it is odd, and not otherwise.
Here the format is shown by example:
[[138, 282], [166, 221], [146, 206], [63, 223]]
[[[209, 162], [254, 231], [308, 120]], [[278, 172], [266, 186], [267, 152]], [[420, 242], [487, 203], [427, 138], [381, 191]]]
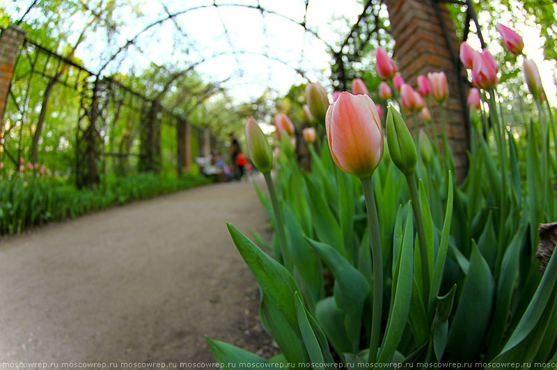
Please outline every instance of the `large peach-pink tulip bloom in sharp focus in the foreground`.
[[371, 176], [383, 157], [383, 131], [373, 100], [341, 93], [327, 109], [325, 128], [337, 166], [360, 178]]

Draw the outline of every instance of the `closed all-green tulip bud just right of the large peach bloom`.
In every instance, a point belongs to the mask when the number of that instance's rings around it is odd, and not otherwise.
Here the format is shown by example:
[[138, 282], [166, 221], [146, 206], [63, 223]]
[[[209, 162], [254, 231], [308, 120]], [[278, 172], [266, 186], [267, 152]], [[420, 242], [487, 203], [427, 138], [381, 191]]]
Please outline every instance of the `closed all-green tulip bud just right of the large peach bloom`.
[[405, 120], [392, 105], [387, 109], [386, 130], [391, 160], [403, 174], [410, 174], [418, 162], [416, 146]]

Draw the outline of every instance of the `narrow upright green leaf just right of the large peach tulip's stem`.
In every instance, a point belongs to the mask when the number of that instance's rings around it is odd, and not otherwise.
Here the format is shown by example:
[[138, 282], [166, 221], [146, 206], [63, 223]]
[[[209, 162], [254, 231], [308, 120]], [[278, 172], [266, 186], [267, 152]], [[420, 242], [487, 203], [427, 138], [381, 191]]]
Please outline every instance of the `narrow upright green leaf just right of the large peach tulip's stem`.
[[400, 259], [397, 261], [398, 267], [393, 276], [393, 286], [395, 295], [393, 297], [393, 307], [389, 314], [385, 334], [383, 337], [381, 352], [377, 362], [390, 362], [396, 348], [402, 338], [402, 332], [408, 319], [412, 296], [412, 264], [414, 257], [414, 218], [409, 207], [406, 216], [404, 237], [402, 239], [402, 250]]

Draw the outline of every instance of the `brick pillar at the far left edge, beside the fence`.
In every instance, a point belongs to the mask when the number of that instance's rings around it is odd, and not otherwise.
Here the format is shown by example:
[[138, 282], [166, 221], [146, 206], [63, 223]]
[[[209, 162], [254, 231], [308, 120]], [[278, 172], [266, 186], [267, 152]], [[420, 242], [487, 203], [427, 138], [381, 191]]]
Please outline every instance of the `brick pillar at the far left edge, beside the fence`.
[[18, 26], [10, 25], [0, 35], [0, 137], [3, 130], [3, 118], [8, 101], [8, 90], [12, 80], [15, 59], [19, 54], [25, 33]]

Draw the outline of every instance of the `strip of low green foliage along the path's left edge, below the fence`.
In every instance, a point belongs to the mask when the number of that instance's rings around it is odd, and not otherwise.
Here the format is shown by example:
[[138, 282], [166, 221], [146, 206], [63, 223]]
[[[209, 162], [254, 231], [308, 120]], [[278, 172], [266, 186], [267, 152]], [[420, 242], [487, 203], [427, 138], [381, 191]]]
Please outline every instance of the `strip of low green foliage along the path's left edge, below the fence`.
[[108, 176], [93, 189], [79, 190], [68, 181], [55, 178], [0, 178], [0, 235], [21, 233], [46, 222], [74, 218], [115, 204], [206, 183], [207, 178], [191, 174], [178, 178], [143, 173], [127, 177]]

